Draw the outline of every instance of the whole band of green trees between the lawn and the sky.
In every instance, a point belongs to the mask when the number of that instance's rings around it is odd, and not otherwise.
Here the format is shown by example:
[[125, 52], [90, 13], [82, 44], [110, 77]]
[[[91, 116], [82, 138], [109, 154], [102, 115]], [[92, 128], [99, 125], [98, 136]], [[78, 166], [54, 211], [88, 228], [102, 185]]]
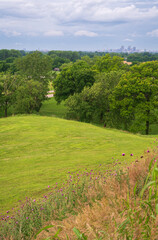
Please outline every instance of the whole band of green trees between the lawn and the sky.
[[[148, 55], [149, 56], [149, 55]], [[149, 133], [158, 122], [158, 61], [124, 64], [119, 55], [79, 56], [79, 52], [1, 50], [2, 61], [14, 58], [0, 72], [0, 115], [39, 111], [53, 83], [55, 99], [65, 101], [67, 118], [132, 132]], [[60, 72], [52, 71], [54, 59]], [[79, 59], [78, 59], [79, 58]]]

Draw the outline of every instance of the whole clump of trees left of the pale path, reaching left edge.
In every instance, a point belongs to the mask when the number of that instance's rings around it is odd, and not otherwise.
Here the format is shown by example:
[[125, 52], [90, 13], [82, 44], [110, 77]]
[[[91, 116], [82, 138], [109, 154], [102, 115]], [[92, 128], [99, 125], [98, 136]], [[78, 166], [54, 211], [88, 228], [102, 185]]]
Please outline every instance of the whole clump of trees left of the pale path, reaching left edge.
[[7, 117], [8, 107], [13, 113], [39, 111], [46, 99], [51, 59], [40, 52], [34, 52], [15, 61], [17, 72], [0, 75], [0, 107]]

